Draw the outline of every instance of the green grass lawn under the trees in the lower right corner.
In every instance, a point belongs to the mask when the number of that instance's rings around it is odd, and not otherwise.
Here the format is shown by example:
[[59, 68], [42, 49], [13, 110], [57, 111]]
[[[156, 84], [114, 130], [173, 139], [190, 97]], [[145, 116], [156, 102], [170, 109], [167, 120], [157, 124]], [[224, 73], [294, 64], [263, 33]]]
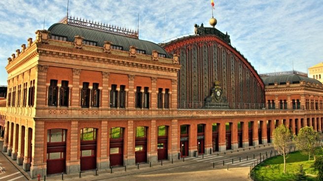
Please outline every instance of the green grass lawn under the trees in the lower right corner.
[[[319, 155], [323, 155], [323, 149]], [[308, 155], [301, 154], [299, 151], [292, 152], [286, 159], [286, 174], [284, 174], [284, 158], [276, 156], [265, 160], [255, 167], [256, 180], [261, 181], [262, 176], [265, 181], [294, 181], [295, 175], [299, 171], [299, 165], [303, 164], [303, 169], [307, 176], [307, 181], [315, 181], [318, 172], [311, 168], [314, 158], [308, 161]]]

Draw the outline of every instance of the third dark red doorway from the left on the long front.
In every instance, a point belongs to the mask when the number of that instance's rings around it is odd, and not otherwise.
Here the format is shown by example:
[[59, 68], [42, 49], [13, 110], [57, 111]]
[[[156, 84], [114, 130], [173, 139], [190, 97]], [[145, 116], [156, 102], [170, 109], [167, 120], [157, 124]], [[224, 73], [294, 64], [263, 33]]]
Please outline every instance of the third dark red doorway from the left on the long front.
[[124, 128], [110, 129], [110, 166], [123, 165], [123, 137]]

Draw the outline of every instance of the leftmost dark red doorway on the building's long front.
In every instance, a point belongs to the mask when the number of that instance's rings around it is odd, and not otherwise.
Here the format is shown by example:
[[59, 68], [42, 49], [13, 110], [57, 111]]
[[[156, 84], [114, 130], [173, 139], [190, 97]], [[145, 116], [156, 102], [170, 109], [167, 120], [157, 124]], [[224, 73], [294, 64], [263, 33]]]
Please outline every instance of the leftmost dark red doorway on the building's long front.
[[66, 129], [47, 130], [47, 174], [66, 170]]

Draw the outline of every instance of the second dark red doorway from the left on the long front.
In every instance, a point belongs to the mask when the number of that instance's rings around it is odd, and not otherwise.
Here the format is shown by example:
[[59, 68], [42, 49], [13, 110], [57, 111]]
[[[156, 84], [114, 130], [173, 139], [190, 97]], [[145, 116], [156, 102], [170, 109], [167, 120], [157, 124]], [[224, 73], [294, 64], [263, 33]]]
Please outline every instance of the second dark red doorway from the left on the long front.
[[97, 129], [83, 128], [80, 130], [80, 167], [83, 170], [97, 168]]

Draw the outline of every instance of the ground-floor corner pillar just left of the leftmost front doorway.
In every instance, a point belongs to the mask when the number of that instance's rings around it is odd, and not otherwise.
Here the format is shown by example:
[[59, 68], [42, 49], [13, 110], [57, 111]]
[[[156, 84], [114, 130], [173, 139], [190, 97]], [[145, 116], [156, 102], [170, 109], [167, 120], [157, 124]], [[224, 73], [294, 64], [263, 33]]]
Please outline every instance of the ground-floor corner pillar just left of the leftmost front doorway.
[[41, 176], [46, 175], [47, 164], [44, 161], [44, 124], [44, 121], [34, 121], [35, 129], [33, 129], [32, 163], [30, 167], [30, 175], [32, 178], [37, 178], [38, 174]]

